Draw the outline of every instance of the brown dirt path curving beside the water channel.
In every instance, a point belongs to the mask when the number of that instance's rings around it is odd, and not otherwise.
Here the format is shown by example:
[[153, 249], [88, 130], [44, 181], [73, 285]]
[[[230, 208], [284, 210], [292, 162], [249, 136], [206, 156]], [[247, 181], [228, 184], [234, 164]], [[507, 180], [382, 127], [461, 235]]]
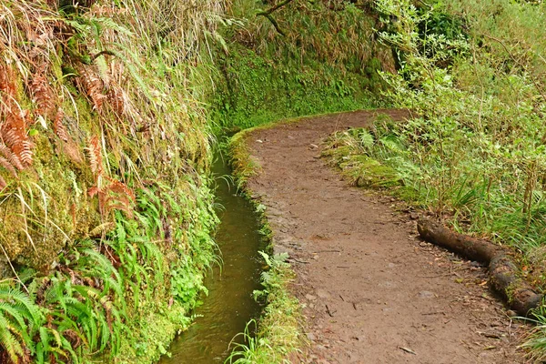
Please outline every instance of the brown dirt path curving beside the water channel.
[[349, 187], [319, 158], [324, 137], [374, 115], [320, 116], [248, 138], [263, 168], [248, 187], [268, 207], [307, 305], [311, 347], [299, 360], [524, 362], [516, 351], [522, 328], [492, 298], [483, 268], [421, 242], [393, 200]]

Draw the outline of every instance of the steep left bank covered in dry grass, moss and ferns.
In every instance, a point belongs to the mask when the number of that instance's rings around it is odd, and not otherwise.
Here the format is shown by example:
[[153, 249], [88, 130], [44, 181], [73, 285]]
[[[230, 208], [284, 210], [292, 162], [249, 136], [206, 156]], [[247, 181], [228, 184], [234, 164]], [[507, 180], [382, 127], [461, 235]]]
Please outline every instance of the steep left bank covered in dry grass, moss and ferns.
[[[0, 66], [20, 73], [12, 92], [23, 95], [15, 96], [29, 111], [35, 153], [0, 192], [6, 363], [156, 360], [187, 328], [216, 259], [201, 101], [223, 5], [87, 4], [15, 0], [0, 9], [10, 29]], [[36, 74], [42, 84], [30, 82]], [[53, 115], [37, 117], [40, 100]], [[105, 186], [117, 198], [106, 213], [92, 193]], [[4, 256], [36, 271], [12, 279]]]

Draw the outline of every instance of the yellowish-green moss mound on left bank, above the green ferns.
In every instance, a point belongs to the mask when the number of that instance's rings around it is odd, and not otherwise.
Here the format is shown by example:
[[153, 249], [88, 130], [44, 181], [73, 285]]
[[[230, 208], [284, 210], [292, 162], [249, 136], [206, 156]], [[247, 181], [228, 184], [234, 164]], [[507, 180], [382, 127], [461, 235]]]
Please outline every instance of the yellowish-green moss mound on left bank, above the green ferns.
[[[0, 234], [17, 264], [45, 271], [63, 248], [100, 225], [101, 218], [86, 194], [93, 181], [89, 168], [67, 157], [66, 142], [47, 130], [33, 139], [33, 168], [20, 174], [17, 192], [3, 202], [6, 216]], [[79, 147], [71, 147], [83, 161]]]

